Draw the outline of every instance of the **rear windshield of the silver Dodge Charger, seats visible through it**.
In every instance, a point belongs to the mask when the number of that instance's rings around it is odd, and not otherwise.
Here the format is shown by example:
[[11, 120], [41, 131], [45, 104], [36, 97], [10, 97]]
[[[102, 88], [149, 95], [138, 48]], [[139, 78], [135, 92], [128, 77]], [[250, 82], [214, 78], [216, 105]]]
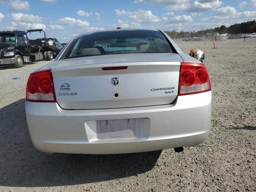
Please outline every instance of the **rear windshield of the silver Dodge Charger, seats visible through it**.
[[129, 53], [172, 53], [172, 49], [157, 30], [105, 31], [74, 39], [64, 59]]

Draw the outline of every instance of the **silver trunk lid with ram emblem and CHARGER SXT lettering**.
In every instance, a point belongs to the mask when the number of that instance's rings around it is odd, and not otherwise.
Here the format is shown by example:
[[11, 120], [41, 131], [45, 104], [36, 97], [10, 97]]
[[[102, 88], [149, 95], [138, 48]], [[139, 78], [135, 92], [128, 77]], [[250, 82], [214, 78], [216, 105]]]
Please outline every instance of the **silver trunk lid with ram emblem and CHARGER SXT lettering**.
[[[67, 110], [172, 103], [178, 95], [178, 54], [119, 54], [51, 64], [56, 100]], [[104, 67], [127, 66], [124, 70]]]

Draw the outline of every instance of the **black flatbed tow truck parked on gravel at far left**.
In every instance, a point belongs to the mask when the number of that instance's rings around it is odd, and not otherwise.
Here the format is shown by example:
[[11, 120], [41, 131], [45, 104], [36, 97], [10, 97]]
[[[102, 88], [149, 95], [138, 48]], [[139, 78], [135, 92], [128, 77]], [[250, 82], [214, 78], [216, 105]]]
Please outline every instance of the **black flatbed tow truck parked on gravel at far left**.
[[29, 40], [28, 32], [43, 32], [42, 29], [24, 31], [0, 31], [0, 66], [13, 65], [16, 68], [25, 62], [52, 60], [60, 50], [47, 44], [44, 38]]

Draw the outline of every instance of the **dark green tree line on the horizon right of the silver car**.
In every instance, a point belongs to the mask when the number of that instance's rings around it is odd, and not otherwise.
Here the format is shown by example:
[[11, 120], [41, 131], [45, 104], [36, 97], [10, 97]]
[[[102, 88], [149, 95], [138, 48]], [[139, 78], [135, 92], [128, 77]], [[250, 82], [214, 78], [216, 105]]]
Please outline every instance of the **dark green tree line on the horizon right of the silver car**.
[[212, 32], [218, 32], [219, 34], [240, 34], [240, 33], [255, 33], [256, 32], [256, 21], [248, 21], [239, 24], [234, 24], [229, 27], [224, 25], [220, 27], [216, 27], [214, 29], [206, 29], [200, 31], [165, 31], [171, 38], [178, 39], [178, 38], [192, 38], [192, 37], [203, 37]]

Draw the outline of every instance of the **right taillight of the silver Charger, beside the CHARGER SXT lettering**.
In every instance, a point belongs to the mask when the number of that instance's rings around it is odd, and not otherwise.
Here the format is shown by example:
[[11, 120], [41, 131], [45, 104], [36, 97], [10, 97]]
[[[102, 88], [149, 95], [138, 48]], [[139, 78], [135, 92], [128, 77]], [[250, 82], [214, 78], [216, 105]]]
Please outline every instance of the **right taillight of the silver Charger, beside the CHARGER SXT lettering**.
[[199, 62], [181, 62], [178, 96], [210, 90], [210, 79], [204, 64]]

